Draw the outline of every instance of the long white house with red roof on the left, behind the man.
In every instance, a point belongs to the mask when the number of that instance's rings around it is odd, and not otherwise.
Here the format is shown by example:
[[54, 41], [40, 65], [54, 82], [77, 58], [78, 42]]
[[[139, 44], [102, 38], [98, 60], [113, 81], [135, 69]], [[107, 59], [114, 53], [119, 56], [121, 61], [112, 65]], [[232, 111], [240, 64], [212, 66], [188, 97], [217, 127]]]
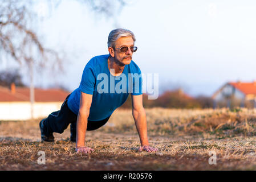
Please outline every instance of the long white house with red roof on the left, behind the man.
[[35, 88], [34, 104], [30, 103], [30, 88], [14, 84], [10, 89], [0, 86], [0, 121], [47, 117], [60, 110], [68, 92], [62, 89]]

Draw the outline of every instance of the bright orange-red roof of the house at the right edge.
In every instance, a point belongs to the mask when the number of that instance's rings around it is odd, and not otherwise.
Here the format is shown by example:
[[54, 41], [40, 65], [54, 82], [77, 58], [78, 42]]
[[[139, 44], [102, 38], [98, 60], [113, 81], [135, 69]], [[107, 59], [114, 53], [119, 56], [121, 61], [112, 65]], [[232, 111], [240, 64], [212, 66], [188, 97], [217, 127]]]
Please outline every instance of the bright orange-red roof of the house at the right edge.
[[256, 95], [256, 82], [229, 82], [228, 84], [234, 86], [244, 94], [254, 94]]

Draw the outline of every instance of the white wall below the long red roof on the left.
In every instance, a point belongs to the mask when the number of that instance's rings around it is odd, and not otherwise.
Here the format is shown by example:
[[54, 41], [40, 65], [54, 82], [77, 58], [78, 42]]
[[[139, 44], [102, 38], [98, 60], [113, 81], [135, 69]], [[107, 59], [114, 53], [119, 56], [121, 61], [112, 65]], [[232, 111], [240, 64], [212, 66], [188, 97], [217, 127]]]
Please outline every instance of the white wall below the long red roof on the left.
[[[35, 102], [34, 118], [44, 118], [60, 110], [63, 102]], [[31, 119], [30, 102], [0, 102], [0, 120]]]

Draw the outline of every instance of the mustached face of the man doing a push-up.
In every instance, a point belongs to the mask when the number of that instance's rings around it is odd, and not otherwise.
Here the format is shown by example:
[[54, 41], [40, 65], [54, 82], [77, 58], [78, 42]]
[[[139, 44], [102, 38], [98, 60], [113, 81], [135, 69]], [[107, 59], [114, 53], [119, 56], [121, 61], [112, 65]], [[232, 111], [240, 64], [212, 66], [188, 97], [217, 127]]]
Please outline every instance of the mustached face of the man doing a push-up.
[[[133, 53], [130, 47], [132, 46], [134, 46], [134, 42], [131, 36], [121, 37], [117, 39], [115, 43], [115, 49], [113, 50], [115, 54], [114, 55], [115, 59], [120, 61], [120, 63], [130, 64], [132, 60], [132, 53]], [[129, 47], [128, 51], [121, 52], [120, 49], [118, 48], [122, 48], [122, 47]]]

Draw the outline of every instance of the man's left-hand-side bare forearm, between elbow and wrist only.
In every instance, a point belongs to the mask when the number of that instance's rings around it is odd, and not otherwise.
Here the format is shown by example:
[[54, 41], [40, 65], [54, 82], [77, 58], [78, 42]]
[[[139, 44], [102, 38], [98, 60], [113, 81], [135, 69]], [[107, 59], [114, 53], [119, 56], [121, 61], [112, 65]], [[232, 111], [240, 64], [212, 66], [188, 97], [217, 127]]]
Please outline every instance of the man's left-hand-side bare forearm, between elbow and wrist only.
[[79, 113], [76, 124], [76, 147], [84, 146], [86, 140], [87, 122], [87, 114]]

